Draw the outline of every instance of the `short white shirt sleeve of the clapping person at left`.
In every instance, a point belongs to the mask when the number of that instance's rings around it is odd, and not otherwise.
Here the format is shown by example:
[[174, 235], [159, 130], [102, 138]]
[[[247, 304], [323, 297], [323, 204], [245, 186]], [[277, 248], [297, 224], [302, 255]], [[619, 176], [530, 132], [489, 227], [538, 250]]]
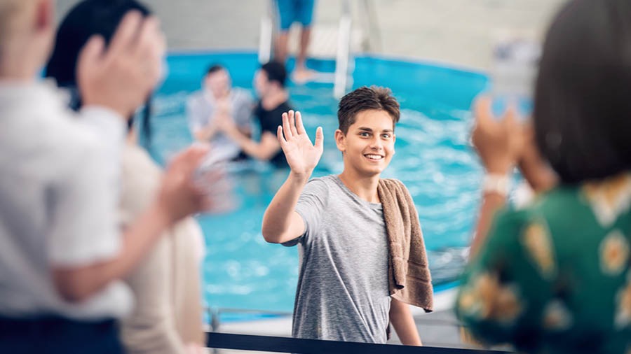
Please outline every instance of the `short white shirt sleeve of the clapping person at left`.
[[99, 144], [86, 144], [73, 168], [51, 188], [48, 245], [55, 266], [83, 266], [119, 252], [120, 157]]

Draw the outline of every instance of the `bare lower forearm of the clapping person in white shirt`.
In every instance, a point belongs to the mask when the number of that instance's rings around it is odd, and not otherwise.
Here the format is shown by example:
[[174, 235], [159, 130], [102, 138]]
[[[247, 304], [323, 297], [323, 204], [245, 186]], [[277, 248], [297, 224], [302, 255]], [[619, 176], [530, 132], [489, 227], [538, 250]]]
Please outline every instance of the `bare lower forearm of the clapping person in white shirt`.
[[163, 208], [150, 208], [124, 233], [121, 251], [113, 260], [80, 268], [54, 269], [57, 289], [69, 301], [87, 299], [111, 281], [128, 274], [170, 224]]

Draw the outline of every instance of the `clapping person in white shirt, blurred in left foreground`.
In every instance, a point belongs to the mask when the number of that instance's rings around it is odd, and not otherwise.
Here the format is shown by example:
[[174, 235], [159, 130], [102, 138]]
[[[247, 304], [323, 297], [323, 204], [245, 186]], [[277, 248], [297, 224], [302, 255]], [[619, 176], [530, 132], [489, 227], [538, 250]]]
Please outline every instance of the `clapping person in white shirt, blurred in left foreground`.
[[54, 2], [0, 0], [0, 353], [123, 353], [117, 320], [128, 274], [160, 234], [203, 208], [190, 175], [207, 153], [172, 161], [161, 192], [121, 237], [116, 210], [126, 118], [160, 76], [163, 34], [130, 12], [107, 50], [81, 50], [78, 114], [39, 80]]

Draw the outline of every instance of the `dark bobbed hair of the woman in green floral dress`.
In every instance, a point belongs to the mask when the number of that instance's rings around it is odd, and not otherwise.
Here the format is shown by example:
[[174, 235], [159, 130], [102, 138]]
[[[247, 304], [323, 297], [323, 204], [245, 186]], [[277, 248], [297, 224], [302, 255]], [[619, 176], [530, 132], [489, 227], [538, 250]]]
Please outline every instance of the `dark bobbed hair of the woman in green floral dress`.
[[536, 143], [563, 183], [631, 168], [631, 1], [576, 0], [548, 30]]

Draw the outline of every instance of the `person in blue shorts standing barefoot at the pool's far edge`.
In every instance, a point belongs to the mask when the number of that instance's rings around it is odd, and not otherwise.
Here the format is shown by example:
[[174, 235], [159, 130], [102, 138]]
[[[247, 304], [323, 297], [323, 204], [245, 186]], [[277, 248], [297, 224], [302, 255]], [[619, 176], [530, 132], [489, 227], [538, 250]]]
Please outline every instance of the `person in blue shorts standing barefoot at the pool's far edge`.
[[290, 28], [294, 22], [298, 22], [301, 26], [300, 42], [292, 80], [296, 83], [305, 83], [315, 76], [315, 71], [306, 67], [315, 0], [276, 0], [276, 5], [278, 17], [280, 17], [280, 31], [278, 31], [274, 46], [274, 60], [286, 64]]

